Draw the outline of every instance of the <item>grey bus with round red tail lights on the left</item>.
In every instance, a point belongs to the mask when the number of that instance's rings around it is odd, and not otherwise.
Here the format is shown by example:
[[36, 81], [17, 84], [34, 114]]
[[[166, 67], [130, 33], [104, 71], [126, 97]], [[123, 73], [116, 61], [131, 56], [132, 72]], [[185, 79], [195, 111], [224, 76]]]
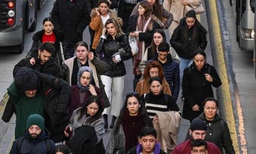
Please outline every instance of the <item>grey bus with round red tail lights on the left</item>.
[[46, 0], [0, 0], [0, 47], [24, 50], [26, 31], [35, 31], [37, 11]]

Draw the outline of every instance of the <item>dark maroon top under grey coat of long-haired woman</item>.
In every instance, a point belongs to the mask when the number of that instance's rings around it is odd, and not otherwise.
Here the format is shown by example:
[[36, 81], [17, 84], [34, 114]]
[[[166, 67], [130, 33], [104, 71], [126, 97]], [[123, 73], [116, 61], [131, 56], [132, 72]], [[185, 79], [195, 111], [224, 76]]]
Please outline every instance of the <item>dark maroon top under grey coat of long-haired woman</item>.
[[139, 115], [130, 116], [129, 110], [126, 108], [123, 112], [121, 125], [125, 133], [125, 151], [129, 151], [129, 149], [137, 145], [139, 132], [143, 127], [146, 127], [146, 124], [143, 121], [143, 117]]

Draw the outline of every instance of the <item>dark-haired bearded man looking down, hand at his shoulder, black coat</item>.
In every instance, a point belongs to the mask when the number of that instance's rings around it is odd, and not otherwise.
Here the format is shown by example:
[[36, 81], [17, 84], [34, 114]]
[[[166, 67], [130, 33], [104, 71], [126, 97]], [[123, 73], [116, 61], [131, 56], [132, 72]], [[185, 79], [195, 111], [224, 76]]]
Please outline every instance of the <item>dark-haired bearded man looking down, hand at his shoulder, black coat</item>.
[[18, 62], [13, 68], [13, 77], [22, 68], [32, 68], [38, 72], [61, 78], [61, 66], [54, 62], [52, 55], [55, 54], [55, 47], [49, 42], [41, 44], [40, 49], [35, 49], [28, 58]]

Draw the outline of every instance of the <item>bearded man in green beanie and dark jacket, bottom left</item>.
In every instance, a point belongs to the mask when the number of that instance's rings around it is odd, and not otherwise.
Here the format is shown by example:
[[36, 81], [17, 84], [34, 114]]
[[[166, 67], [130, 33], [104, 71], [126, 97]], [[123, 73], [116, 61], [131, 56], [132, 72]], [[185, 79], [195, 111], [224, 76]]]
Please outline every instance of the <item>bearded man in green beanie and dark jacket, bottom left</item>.
[[52, 153], [55, 143], [49, 139], [49, 131], [44, 127], [44, 118], [31, 114], [26, 123], [26, 133], [13, 142], [11, 154], [16, 153]]

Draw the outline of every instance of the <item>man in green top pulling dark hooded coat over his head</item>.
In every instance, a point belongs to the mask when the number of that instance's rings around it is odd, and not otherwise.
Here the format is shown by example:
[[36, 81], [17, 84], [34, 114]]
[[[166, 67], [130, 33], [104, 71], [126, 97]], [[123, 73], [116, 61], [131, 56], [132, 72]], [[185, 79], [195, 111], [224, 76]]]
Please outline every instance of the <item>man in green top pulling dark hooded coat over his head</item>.
[[[67, 104], [70, 96], [70, 86], [65, 80], [23, 67], [16, 72], [7, 93], [13, 106], [5, 107], [5, 118], [2, 119], [11, 119], [15, 112], [15, 139], [24, 136], [30, 114], [40, 114], [46, 120], [51, 139], [55, 143], [65, 141], [63, 130], [68, 123]], [[11, 114], [6, 116], [7, 112]]]

